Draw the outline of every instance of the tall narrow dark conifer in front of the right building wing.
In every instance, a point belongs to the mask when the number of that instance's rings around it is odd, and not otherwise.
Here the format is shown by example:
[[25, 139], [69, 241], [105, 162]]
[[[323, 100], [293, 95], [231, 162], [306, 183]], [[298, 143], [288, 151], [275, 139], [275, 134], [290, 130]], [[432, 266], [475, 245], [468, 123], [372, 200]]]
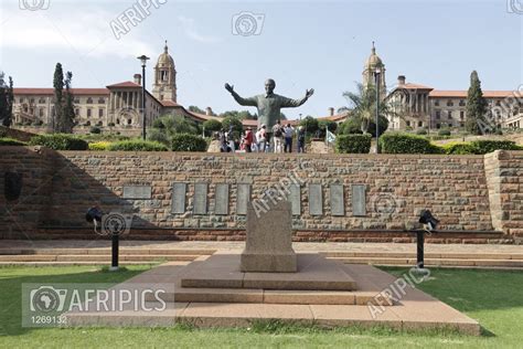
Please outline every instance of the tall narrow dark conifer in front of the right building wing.
[[485, 121], [487, 101], [481, 91], [481, 81], [478, 73], [473, 71], [470, 74], [470, 87], [467, 94], [467, 120], [465, 128], [472, 135], [482, 135], [490, 127]]

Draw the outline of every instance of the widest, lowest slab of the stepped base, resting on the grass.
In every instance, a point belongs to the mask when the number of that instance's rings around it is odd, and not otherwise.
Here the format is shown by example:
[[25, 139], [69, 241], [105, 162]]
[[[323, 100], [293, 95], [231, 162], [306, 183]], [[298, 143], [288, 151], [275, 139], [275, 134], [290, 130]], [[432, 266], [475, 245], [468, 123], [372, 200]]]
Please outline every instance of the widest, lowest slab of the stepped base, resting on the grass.
[[[183, 289], [181, 279], [200, 268], [205, 262], [193, 262], [188, 266], [162, 265], [145, 272], [115, 288], [135, 289], [138, 284], [147, 284], [156, 287], [156, 283], [164, 276], [174, 283], [174, 293]], [[381, 290], [389, 287], [396, 277], [369, 265], [345, 265], [344, 273], [359, 285], [356, 293], [372, 295], [381, 294]], [[186, 289], [185, 289], [186, 290]], [[206, 293], [204, 288], [196, 289]], [[273, 298], [275, 303], [214, 303], [214, 302], [179, 302], [168, 303], [163, 311], [153, 314], [147, 311], [90, 311], [67, 314], [68, 326], [171, 326], [175, 322], [189, 322], [196, 327], [249, 327], [255, 321], [279, 320], [282, 322], [300, 322], [319, 326], [386, 326], [396, 329], [456, 329], [463, 334], [480, 335], [478, 321], [467, 317], [450, 306], [424, 294], [423, 292], [407, 286], [405, 295], [394, 303], [393, 306], [373, 307], [372, 305], [329, 305], [329, 304], [291, 304], [290, 298], [310, 295], [310, 290], [256, 290], [236, 288], [236, 293], [245, 293], [248, 300], [259, 300], [260, 293], [263, 302]], [[230, 289], [214, 289], [215, 295], [226, 295], [234, 292]], [[334, 292], [323, 292], [324, 296]], [[313, 293], [312, 293], [313, 294]], [[334, 296], [332, 296], [334, 297]], [[320, 299], [318, 297], [317, 299]], [[356, 297], [357, 299], [357, 297]], [[362, 298], [363, 299], [363, 298]], [[311, 298], [309, 298], [311, 300]], [[288, 303], [287, 303], [288, 302]]]

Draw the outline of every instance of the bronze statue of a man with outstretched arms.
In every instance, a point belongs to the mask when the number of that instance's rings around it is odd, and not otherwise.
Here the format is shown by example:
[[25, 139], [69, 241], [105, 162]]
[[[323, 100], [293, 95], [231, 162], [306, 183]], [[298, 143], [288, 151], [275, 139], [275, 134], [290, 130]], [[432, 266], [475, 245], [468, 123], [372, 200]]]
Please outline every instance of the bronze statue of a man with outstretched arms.
[[250, 98], [241, 97], [235, 91], [234, 86], [225, 84], [227, 89], [236, 99], [239, 105], [253, 106], [258, 108], [258, 128], [262, 125], [267, 127], [267, 131], [270, 133], [273, 126], [280, 119], [281, 108], [296, 108], [307, 102], [312, 96], [314, 89], [307, 89], [306, 95], [301, 99], [291, 99], [274, 93], [276, 83], [274, 80], [268, 78], [265, 82], [265, 94], [257, 95]]

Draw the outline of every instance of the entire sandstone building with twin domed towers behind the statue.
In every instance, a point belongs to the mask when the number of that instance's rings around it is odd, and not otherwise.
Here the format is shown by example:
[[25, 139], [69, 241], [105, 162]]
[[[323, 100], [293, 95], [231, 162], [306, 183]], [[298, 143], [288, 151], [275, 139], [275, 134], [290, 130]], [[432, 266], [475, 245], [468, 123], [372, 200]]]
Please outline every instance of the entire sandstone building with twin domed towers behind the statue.
[[[378, 78], [376, 78], [376, 73]], [[380, 96], [388, 104], [387, 115], [391, 130], [416, 130], [439, 128], [462, 128], [467, 119], [467, 91], [435, 89], [421, 84], [407, 83], [399, 75], [397, 84], [387, 92], [386, 68], [377, 55], [374, 43], [366, 59], [362, 84], [364, 87], [380, 85]], [[142, 129], [142, 87], [141, 75], [135, 74], [132, 81], [126, 81], [105, 88], [73, 88], [76, 110], [75, 133], [86, 133], [93, 126], [109, 127], [122, 135], [139, 135]], [[14, 88], [14, 127], [51, 128], [54, 115], [53, 88]], [[523, 127], [523, 92], [484, 91], [489, 115], [487, 129]], [[205, 114], [194, 113], [178, 103], [177, 70], [174, 60], [166, 45], [154, 65], [152, 92], [146, 91], [146, 123], [151, 126], [159, 116], [183, 116], [196, 123], [221, 119], [213, 115], [210, 107]], [[350, 117], [349, 113], [334, 115], [333, 108], [319, 119], [332, 119], [337, 123]], [[256, 127], [256, 120], [243, 120], [244, 127]], [[297, 120], [291, 124], [298, 123]], [[42, 130], [43, 130], [42, 129]], [[32, 129], [33, 130], [33, 129]], [[38, 131], [38, 129], [36, 129]]]

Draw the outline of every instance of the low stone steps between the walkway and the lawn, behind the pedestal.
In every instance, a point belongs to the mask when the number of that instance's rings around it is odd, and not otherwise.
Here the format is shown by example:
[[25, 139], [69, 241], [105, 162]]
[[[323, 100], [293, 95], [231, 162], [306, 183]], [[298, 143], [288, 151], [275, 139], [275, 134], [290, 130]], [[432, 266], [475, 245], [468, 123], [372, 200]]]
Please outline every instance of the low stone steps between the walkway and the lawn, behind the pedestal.
[[[173, 262], [188, 264], [200, 256], [216, 252], [212, 248], [121, 247], [121, 265]], [[320, 252], [328, 258], [345, 264], [413, 266], [416, 254], [409, 252]], [[110, 247], [95, 248], [0, 248], [0, 265], [100, 265], [109, 264]], [[465, 268], [523, 269], [521, 253], [425, 253], [426, 266]]]

